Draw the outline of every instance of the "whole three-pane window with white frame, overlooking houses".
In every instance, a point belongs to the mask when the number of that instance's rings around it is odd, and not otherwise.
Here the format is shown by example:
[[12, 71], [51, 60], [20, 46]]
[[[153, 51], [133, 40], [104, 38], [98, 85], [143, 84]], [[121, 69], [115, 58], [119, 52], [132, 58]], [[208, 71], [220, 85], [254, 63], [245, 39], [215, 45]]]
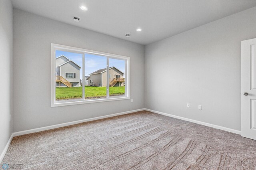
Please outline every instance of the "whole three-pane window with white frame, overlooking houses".
[[130, 99], [129, 63], [130, 57], [52, 44], [52, 107]]

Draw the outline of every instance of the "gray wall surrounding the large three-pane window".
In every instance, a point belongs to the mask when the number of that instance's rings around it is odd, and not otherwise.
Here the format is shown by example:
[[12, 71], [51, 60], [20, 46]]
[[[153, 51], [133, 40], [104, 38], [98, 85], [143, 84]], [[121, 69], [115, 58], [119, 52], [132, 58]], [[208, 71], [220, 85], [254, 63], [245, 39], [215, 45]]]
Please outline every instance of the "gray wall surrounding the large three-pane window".
[[[122, 100], [51, 108], [51, 43], [131, 57], [130, 88], [134, 102]], [[144, 107], [144, 80], [141, 79], [144, 45], [14, 9], [13, 64], [14, 132]], [[140, 86], [135, 82], [140, 82]], [[34, 84], [37, 85], [31, 86]]]

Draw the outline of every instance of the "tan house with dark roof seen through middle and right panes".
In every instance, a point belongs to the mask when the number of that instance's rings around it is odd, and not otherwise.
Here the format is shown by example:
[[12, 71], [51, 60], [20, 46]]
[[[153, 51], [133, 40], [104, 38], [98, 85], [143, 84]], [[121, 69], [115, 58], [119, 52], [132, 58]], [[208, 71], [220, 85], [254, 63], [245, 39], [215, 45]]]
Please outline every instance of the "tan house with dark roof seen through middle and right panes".
[[[107, 86], [107, 69], [99, 69], [97, 71], [94, 71], [93, 73], [89, 74], [90, 76], [87, 77], [86, 80], [88, 80], [89, 86], [97, 86], [97, 87], [106, 87]], [[124, 73], [117, 69], [116, 67], [110, 67], [109, 68], [109, 86], [124, 86]]]

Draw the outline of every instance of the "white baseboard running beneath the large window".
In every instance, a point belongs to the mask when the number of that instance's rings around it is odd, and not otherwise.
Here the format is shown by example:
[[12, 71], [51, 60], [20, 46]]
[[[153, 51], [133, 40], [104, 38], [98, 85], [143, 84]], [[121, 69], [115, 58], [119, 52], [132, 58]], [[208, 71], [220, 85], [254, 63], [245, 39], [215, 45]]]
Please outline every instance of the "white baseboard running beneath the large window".
[[111, 115], [105, 115], [105, 116], [100, 116], [100, 117], [93, 117], [93, 118], [89, 118], [89, 119], [83, 119], [80, 121], [73, 121], [73, 122], [67, 122], [67, 123], [61, 123], [58, 125], [52, 125], [52, 126], [47, 126], [47, 127], [40, 127], [40, 128], [34, 128], [34, 129], [30, 129], [30, 130], [23, 130], [23, 131], [19, 131], [19, 132], [14, 132], [13, 133], [13, 137], [14, 136], [20, 136], [23, 134], [29, 134], [29, 133], [34, 133], [34, 132], [40, 132], [40, 131], [44, 131], [44, 130], [50, 130], [50, 129], [54, 129], [54, 128], [59, 128], [59, 127], [66, 127], [66, 126], [70, 126], [70, 125], [76, 125], [78, 123], [84, 123], [84, 122], [89, 122], [89, 121], [95, 121], [95, 120], [99, 120], [99, 119], [104, 119], [104, 118], [108, 118], [108, 117], [114, 117], [114, 116], [118, 116], [118, 115], [125, 115], [128, 113], [133, 113], [133, 112], [138, 112], [138, 111], [144, 111], [145, 109], [137, 109], [137, 110], [132, 110], [132, 111], [126, 111], [126, 112], [121, 112], [121, 113], [115, 113], [115, 114], [111, 114]]

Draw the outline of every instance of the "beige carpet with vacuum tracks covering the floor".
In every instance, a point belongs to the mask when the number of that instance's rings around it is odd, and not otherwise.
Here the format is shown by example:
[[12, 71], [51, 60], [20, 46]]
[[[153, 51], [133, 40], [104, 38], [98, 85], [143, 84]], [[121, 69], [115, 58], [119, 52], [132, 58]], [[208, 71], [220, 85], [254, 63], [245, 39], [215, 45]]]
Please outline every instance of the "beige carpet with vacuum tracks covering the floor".
[[256, 169], [256, 141], [148, 111], [14, 137], [20, 169]]

